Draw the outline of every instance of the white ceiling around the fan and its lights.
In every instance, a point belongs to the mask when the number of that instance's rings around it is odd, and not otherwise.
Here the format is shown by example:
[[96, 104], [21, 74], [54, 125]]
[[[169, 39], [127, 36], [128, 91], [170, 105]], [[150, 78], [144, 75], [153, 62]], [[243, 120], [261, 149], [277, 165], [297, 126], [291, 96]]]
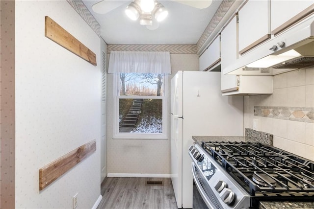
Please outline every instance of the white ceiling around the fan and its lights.
[[197, 9], [172, 0], [160, 0], [169, 11], [168, 17], [155, 30], [138, 21], [131, 21], [124, 10], [131, 0], [106, 14], [95, 13], [92, 5], [100, 0], [83, 3], [101, 25], [101, 36], [107, 44], [196, 44], [222, 0], [213, 0], [205, 9]]

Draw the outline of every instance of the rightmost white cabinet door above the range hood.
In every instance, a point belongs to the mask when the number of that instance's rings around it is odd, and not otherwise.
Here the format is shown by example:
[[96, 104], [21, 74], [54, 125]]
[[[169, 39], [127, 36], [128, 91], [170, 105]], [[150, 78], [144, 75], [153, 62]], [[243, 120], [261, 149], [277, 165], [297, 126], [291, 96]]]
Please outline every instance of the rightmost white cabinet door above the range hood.
[[313, 0], [271, 0], [271, 34], [278, 34], [313, 12]]

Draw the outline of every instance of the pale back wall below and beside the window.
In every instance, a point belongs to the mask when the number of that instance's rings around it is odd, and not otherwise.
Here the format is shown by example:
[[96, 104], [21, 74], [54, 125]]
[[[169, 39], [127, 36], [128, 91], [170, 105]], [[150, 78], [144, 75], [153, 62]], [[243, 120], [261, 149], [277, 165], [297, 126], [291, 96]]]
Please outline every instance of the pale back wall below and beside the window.
[[[110, 59], [110, 57], [109, 57]], [[199, 69], [198, 55], [171, 54], [172, 74], [168, 76], [170, 95], [170, 79], [178, 70]], [[113, 124], [113, 75], [108, 74], [107, 110], [108, 110], [108, 176], [134, 176], [133, 174], [148, 176], [170, 177], [170, 116], [168, 116], [168, 139], [112, 139]], [[170, 97], [169, 97], [170, 98]], [[170, 111], [170, 99], [168, 109]], [[157, 174], [157, 175], [156, 175]]]

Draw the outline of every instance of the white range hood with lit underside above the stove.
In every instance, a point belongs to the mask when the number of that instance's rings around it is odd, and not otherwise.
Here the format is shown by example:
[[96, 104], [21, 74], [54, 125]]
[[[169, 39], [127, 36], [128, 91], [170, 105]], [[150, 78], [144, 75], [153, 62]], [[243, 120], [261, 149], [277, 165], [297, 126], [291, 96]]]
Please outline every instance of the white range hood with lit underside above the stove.
[[222, 70], [224, 74], [275, 75], [309, 67], [314, 67], [314, 15]]

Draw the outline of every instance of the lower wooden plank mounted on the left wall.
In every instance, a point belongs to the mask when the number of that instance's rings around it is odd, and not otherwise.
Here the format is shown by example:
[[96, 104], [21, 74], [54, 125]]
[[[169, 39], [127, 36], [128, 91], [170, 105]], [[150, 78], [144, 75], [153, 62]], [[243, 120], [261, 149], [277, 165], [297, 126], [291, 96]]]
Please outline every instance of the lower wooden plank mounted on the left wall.
[[54, 180], [62, 176], [95, 151], [96, 141], [93, 140], [40, 168], [39, 190], [42, 190], [50, 185]]

